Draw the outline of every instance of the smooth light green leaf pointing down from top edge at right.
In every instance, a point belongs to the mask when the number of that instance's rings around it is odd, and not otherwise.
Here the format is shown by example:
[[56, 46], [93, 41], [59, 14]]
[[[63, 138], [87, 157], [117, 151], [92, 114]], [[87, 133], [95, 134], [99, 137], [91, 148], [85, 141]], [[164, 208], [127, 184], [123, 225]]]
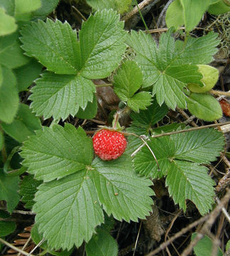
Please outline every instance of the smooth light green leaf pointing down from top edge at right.
[[183, 7], [184, 23], [186, 31], [192, 31], [197, 26], [205, 11], [207, 11], [210, 0], [180, 0]]

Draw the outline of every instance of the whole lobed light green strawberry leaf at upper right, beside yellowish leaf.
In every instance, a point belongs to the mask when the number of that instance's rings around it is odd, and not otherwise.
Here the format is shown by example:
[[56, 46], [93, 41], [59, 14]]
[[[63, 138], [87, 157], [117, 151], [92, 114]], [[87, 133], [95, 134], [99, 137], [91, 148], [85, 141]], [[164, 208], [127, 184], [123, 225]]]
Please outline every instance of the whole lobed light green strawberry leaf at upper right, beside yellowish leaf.
[[181, 41], [175, 41], [170, 36], [171, 32], [169, 30], [160, 36], [159, 47], [150, 35], [142, 31], [131, 31], [127, 43], [136, 51], [135, 60], [143, 71], [143, 87], [153, 85], [158, 104], [165, 102], [174, 110], [176, 105], [186, 107], [184, 88], [187, 83], [201, 83], [202, 75], [195, 64], [202, 62], [202, 59], [203, 63], [212, 60], [217, 51], [214, 46], [219, 41], [214, 33], [210, 33], [210, 36], [202, 38], [188, 38], [186, 46], [182, 47]]

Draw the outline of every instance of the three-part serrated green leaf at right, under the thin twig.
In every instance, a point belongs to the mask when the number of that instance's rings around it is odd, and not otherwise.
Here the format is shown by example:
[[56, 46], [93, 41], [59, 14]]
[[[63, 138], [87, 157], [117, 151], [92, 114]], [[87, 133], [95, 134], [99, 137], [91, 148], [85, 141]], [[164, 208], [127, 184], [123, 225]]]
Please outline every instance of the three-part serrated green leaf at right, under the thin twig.
[[134, 168], [148, 177], [167, 176], [166, 184], [175, 203], [186, 210], [185, 200], [190, 199], [204, 215], [212, 208], [214, 183], [207, 175], [207, 168], [199, 164], [216, 160], [224, 143], [223, 134], [216, 129], [150, 138], [148, 145], [158, 159], [160, 171], [146, 146], [136, 154]]

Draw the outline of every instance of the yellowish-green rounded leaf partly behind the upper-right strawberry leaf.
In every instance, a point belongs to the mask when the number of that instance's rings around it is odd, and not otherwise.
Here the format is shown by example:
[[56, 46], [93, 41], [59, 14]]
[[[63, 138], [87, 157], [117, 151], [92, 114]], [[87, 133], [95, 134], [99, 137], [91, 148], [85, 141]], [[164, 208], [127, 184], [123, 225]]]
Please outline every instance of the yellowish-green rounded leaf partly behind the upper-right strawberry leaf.
[[219, 78], [219, 71], [217, 68], [213, 68], [209, 65], [197, 65], [198, 71], [203, 75], [202, 83], [203, 87], [197, 84], [188, 84], [187, 87], [190, 89], [191, 92], [208, 92], [209, 90], [214, 87], [217, 83]]

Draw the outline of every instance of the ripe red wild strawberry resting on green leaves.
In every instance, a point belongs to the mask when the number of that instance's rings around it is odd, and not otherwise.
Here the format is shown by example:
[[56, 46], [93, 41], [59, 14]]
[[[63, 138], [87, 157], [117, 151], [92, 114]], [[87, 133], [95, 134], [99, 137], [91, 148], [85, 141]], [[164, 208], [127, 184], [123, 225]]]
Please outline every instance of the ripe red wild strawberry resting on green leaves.
[[117, 159], [126, 149], [126, 138], [121, 132], [101, 129], [93, 137], [94, 151], [102, 160]]

